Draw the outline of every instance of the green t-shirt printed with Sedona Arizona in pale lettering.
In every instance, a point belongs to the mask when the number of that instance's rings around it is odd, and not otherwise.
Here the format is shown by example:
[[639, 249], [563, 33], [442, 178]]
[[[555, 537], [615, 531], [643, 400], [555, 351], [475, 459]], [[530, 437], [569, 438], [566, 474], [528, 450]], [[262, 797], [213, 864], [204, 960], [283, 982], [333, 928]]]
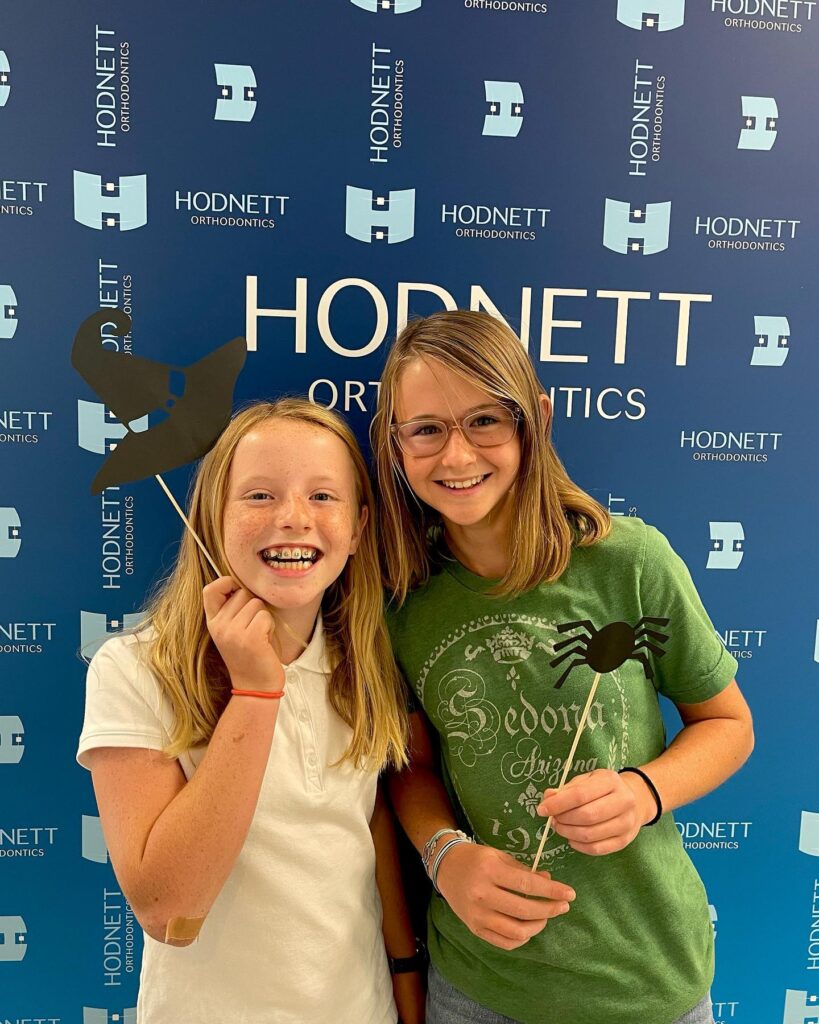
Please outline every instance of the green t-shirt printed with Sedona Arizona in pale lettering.
[[[639, 519], [614, 519], [605, 541], [575, 548], [555, 583], [513, 599], [485, 594], [489, 586], [443, 552], [429, 583], [390, 614], [390, 630], [466, 825], [530, 865], [545, 824], [535, 808], [558, 784], [594, 679], [588, 662], [599, 660], [594, 631], [669, 620], [647, 624], [667, 640], [638, 629], [639, 646], [627, 644], [637, 657], [602, 676], [569, 777], [656, 758], [665, 745], [657, 693], [707, 700], [734, 678], [736, 662], [683, 562]], [[588, 626], [557, 629], [578, 621]], [[577, 898], [511, 952], [476, 938], [433, 896], [430, 955], [450, 984], [523, 1024], [671, 1024], [702, 998], [714, 976], [707, 901], [671, 814], [608, 856], [577, 853], [552, 834], [540, 867]]]

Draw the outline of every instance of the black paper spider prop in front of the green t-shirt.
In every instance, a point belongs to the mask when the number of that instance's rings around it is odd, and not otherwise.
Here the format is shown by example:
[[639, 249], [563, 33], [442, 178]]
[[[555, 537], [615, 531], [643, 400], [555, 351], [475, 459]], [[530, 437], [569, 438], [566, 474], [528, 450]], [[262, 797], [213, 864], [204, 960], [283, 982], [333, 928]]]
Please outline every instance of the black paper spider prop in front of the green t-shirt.
[[[595, 629], [589, 618], [580, 618], [576, 623], [563, 623], [558, 626], [561, 633], [583, 629], [588, 635], [575, 634], [573, 637], [568, 637], [555, 644], [555, 653], [558, 651], [563, 651], [563, 653], [558, 654], [549, 663], [553, 669], [565, 662], [567, 657], [571, 657], [572, 654], [576, 655], [555, 683], [555, 689], [560, 689], [568, 674], [578, 665], [588, 665], [595, 672], [603, 673], [619, 669], [623, 662], [635, 660], [643, 666], [646, 679], [653, 679], [654, 670], [651, 668], [646, 650], [650, 650], [655, 657], [662, 657], [665, 651], [659, 644], [665, 643], [669, 634], [660, 633], [651, 627], [667, 626], [669, 622], [667, 618], [643, 615], [634, 627], [628, 623], [609, 623], [601, 630]], [[570, 644], [574, 644], [574, 646], [569, 646]], [[564, 650], [566, 647], [568, 650]]]

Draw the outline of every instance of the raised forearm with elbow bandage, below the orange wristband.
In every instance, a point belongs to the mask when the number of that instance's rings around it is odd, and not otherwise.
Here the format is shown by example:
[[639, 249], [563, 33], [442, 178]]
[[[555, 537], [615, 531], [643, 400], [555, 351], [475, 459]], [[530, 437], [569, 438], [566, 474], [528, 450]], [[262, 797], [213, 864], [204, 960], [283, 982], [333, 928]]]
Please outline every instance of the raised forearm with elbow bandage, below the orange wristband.
[[256, 810], [278, 703], [232, 697], [193, 777], [154, 823], [132, 904], [155, 938], [174, 918], [206, 916], [230, 873]]

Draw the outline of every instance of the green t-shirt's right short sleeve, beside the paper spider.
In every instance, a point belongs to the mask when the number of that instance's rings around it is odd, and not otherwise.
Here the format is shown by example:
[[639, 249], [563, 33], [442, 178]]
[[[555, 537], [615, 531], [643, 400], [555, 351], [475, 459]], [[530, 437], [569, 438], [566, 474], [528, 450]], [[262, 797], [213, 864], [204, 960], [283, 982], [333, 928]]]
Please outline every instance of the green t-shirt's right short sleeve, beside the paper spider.
[[667, 626], [646, 624], [667, 635], [655, 643], [663, 653], [651, 652], [659, 692], [679, 703], [700, 703], [722, 692], [736, 677], [737, 663], [717, 635], [685, 562], [653, 526], [646, 527], [640, 601], [645, 616], [669, 620]]

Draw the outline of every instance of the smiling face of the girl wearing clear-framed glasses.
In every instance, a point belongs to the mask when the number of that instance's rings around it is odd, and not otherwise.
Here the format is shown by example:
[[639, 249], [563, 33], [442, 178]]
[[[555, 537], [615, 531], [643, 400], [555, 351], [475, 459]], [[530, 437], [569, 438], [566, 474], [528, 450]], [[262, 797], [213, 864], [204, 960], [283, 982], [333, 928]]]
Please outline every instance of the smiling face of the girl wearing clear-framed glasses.
[[[440, 362], [419, 358], [401, 374], [396, 417], [399, 423], [431, 417], [450, 424], [497, 400]], [[477, 447], [460, 430], [451, 430], [436, 455], [401, 454], [401, 459], [410, 486], [445, 523], [478, 526], [509, 514], [520, 469], [517, 433], [504, 444]]]

